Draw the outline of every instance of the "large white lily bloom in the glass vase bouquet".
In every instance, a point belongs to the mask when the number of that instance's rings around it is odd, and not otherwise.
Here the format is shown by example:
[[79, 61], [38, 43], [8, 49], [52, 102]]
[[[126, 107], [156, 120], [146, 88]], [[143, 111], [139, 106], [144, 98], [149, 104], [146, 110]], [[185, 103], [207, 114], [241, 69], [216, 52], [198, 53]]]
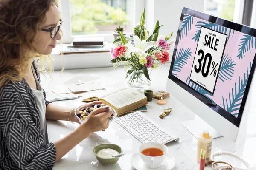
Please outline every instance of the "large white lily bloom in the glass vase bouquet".
[[147, 57], [148, 53], [146, 53], [146, 51], [148, 51], [149, 48], [154, 47], [156, 45], [156, 43], [157, 42], [155, 42], [155, 41], [150, 41], [150, 42], [146, 42], [146, 40], [140, 41], [140, 38], [137, 35], [135, 35], [134, 36], [134, 45], [132, 45], [131, 42], [125, 44], [125, 46], [128, 47], [128, 49], [125, 53], [125, 57], [127, 57], [127, 58], [130, 57], [131, 52], [137, 52], [140, 59], [142, 57]]

